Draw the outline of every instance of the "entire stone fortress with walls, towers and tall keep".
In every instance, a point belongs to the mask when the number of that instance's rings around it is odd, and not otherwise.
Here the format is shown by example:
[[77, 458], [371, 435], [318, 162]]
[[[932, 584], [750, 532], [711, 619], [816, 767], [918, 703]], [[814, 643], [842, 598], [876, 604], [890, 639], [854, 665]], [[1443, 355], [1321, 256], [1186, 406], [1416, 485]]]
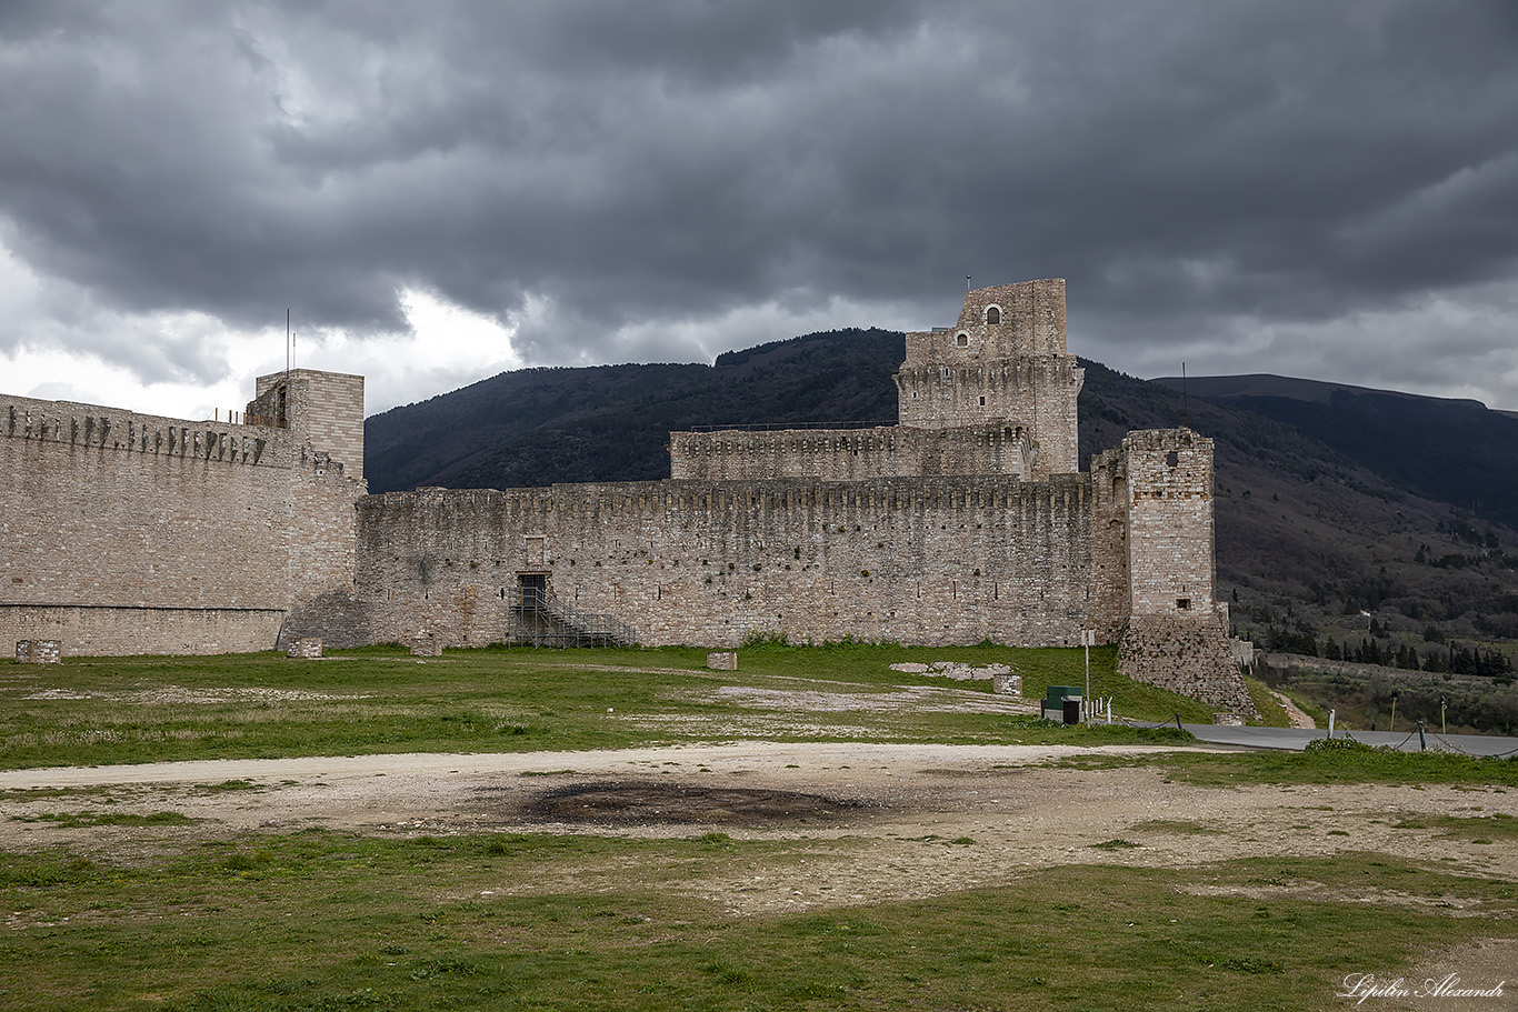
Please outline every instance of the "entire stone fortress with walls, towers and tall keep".
[[1079, 472], [1064, 282], [906, 335], [899, 425], [674, 432], [665, 481], [366, 495], [363, 378], [257, 381], [238, 423], [0, 396], [0, 643], [68, 654], [419, 642], [1119, 643], [1252, 713], [1216, 599], [1213, 446]]

